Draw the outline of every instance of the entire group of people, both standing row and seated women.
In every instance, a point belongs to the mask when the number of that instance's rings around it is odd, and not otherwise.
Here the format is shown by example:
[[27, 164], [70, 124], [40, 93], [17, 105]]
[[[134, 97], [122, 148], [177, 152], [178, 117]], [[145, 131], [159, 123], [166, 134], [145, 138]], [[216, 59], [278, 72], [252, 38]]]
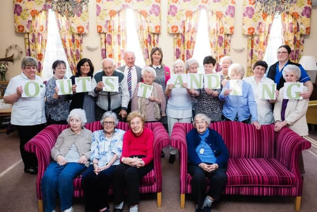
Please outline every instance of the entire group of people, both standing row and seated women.
[[[174, 87], [171, 72], [197, 73], [199, 63], [195, 59], [188, 59], [185, 64], [177, 60], [170, 71], [162, 63], [163, 53], [158, 47], [152, 49], [151, 64], [144, 69], [135, 65], [135, 55], [131, 51], [124, 54], [125, 66], [116, 69], [114, 60], [105, 58], [102, 70], [94, 75], [91, 61], [84, 58], [77, 65], [76, 75], [71, 77], [72, 95], [58, 95], [56, 80], [65, 78], [64, 61], [53, 63], [54, 75], [45, 85], [36, 75], [37, 61], [25, 57], [21, 74], [10, 80], [4, 94], [4, 102], [13, 103], [11, 124], [16, 126], [20, 137], [24, 171], [35, 174], [37, 161], [35, 155], [24, 151], [23, 145], [46, 123], [69, 124], [70, 129], [63, 131], [52, 149], [53, 162], [42, 180], [46, 211], [54, 210], [57, 192], [62, 200], [62, 210], [71, 209], [73, 191], [65, 191], [64, 188], [72, 187], [72, 179], [88, 165], [82, 177], [87, 194], [86, 209], [109, 210], [105, 191], [113, 179], [115, 211], [122, 210], [125, 190], [130, 211], [134, 211], [139, 203], [139, 196], [136, 195], [138, 179], [153, 168], [153, 133], [144, 128], [144, 123], [161, 122], [170, 135], [175, 123], [193, 121], [194, 129], [187, 136], [188, 170], [193, 176], [196, 211], [208, 210], [212, 201], [219, 199], [226, 185], [229, 157], [222, 138], [208, 128], [211, 122], [239, 121], [252, 124], [256, 129], [274, 123], [276, 132], [287, 126], [300, 136], [308, 135], [305, 114], [313, 84], [300, 64], [289, 61], [290, 54], [290, 47], [282, 45], [277, 51], [278, 62], [269, 69], [264, 61], [257, 61], [252, 69], [254, 75], [241, 80], [241, 95], [230, 95], [231, 80], [242, 79], [244, 69], [240, 64], [233, 63], [229, 56], [220, 60], [222, 71], [218, 73], [221, 75], [221, 87], [218, 89], [195, 89], [188, 87], [187, 83]], [[205, 57], [203, 65], [206, 74], [217, 73], [214, 71], [216, 60], [212, 56]], [[90, 92], [76, 93], [75, 78], [80, 76], [91, 77]], [[103, 91], [103, 76], [118, 77], [117, 92]], [[40, 84], [40, 95], [22, 98], [22, 85], [29, 80]], [[138, 95], [141, 82], [152, 86], [148, 98]], [[303, 82], [304, 91], [300, 94], [303, 99], [284, 99], [284, 82]], [[276, 83], [277, 98], [262, 99], [258, 89], [261, 83]], [[100, 120], [104, 130], [91, 133], [83, 127], [86, 122], [96, 120]], [[116, 129], [118, 120], [127, 121], [131, 130], [123, 132]], [[172, 147], [169, 150], [169, 162], [173, 163], [177, 151]], [[217, 184], [210, 188], [207, 197], [206, 188], [203, 189], [207, 182], [200, 183], [206, 176], [213, 185]]]

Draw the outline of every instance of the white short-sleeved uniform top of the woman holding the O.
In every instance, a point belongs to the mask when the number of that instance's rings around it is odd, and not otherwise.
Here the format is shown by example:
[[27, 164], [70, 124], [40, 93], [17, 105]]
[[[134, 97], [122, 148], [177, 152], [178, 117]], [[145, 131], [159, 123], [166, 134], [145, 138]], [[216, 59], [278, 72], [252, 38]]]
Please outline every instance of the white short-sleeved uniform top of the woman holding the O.
[[[16, 88], [30, 79], [22, 72], [10, 79], [4, 96], [16, 93]], [[20, 97], [13, 103], [11, 112], [11, 124], [20, 126], [32, 126], [46, 123], [45, 117], [45, 84], [39, 76], [35, 76], [35, 81], [40, 84], [39, 97]]]

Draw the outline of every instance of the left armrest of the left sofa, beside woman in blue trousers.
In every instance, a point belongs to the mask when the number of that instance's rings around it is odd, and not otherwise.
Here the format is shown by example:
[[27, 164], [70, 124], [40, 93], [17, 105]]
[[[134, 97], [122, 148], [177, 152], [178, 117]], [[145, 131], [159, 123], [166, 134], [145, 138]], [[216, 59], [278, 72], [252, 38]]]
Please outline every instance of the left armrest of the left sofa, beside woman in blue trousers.
[[42, 199], [41, 179], [48, 164], [52, 160], [51, 150], [61, 132], [62, 129], [58, 125], [50, 125], [24, 145], [24, 149], [28, 152], [33, 152], [38, 161], [38, 172], [36, 178], [37, 199]]

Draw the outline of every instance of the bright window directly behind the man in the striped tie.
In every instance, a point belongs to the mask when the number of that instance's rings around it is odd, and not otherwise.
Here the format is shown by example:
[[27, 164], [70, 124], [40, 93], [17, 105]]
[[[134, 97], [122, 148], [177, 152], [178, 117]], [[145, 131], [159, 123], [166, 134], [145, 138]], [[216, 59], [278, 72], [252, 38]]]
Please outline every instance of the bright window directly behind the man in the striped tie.
[[141, 51], [139, 37], [137, 34], [134, 11], [130, 8], [126, 9], [126, 26], [127, 26], [127, 51], [135, 54], [135, 65], [141, 68], [146, 66]]

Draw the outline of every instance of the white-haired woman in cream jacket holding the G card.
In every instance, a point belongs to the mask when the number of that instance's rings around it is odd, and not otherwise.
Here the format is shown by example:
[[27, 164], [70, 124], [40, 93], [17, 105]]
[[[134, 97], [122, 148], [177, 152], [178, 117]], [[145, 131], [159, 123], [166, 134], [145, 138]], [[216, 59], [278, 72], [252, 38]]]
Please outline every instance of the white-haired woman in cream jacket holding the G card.
[[[282, 74], [286, 82], [298, 82], [301, 78], [301, 70], [296, 65], [287, 65]], [[308, 88], [304, 86], [303, 91], [308, 91]], [[308, 136], [306, 111], [308, 109], [309, 98], [283, 99], [284, 92], [284, 87], [282, 87], [274, 104], [275, 131], [278, 132], [283, 127], [289, 127], [300, 136]], [[301, 173], [304, 174], [305, 169], [302, 154], [299, 156], [299, 165]]]

